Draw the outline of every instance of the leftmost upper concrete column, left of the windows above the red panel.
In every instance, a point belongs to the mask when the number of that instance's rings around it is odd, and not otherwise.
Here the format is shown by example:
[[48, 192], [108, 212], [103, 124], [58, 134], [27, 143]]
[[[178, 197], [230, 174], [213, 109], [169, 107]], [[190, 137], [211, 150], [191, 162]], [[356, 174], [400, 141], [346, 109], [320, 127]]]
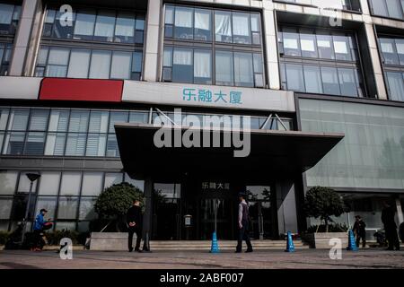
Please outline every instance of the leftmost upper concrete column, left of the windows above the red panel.
[[40, 0], [24, 0], [22, 2], [22, 14], [14, 39], [13, 58], [9, 75], [26, 75], [24, 65], [27, 60], [27, 53], [31, 43], [31, 31], [33, 30], [33, 23], [39, 5]]

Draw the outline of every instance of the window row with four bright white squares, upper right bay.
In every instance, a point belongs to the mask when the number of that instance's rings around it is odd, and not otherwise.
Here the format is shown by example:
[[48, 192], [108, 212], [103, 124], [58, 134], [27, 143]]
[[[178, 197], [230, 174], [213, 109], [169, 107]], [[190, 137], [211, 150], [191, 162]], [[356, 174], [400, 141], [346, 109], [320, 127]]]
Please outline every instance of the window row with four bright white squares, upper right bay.
[[278, 31], [281, 56], [356, 61], [353, 34], [305, 28], [281, 27]]

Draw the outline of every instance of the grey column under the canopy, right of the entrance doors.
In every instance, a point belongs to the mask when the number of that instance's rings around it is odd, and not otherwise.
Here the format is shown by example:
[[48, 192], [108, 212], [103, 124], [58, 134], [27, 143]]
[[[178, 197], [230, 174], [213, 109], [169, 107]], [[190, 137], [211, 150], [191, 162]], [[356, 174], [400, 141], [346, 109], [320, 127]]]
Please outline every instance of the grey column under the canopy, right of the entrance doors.
[[279, 181], [277, 192], [277, 226], [279, 234], [287, 231], [298, 232], [294, 182]]

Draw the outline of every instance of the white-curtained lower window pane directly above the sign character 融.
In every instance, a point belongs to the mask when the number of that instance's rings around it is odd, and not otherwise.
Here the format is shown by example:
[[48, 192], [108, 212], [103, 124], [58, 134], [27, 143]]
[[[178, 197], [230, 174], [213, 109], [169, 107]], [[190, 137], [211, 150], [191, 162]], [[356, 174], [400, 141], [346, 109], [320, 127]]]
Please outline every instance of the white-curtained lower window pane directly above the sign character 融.
[[194, 51], [194, 83], [212, 83], [212, 53], [208, 50]]

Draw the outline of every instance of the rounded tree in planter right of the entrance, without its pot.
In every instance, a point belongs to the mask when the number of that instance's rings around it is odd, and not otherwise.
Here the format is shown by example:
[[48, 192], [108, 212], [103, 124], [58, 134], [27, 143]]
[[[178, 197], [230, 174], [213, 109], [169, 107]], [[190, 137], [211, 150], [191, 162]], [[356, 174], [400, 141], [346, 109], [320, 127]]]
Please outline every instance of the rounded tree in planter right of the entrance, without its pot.
[[312, 187], [304, 198], [304, 212], [309, 217], [324, 221], [326, 232], [329, 231], [331, 216], [344, 213], [344, 201], [332, 188]]

